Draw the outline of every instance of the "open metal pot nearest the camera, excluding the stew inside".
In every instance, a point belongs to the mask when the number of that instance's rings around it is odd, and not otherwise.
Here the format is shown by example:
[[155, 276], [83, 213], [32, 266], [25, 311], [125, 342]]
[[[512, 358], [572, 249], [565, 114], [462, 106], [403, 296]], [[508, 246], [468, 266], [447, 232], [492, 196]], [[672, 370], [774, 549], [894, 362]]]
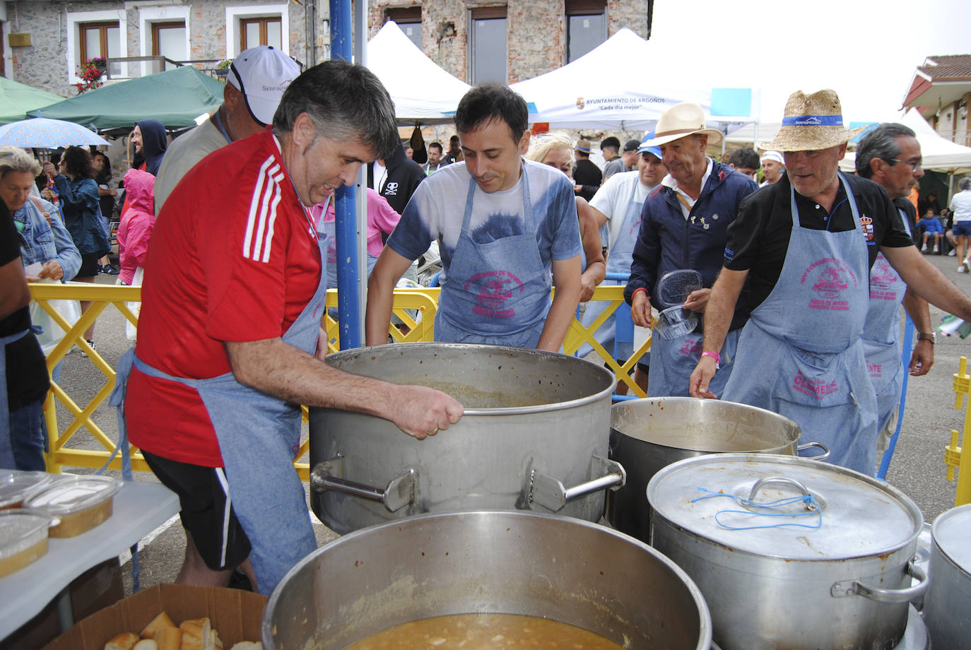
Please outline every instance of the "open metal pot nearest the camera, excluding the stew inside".
[[533, 512], [420, 515], [343, 536], [290, 569], [263, 612], [267, 650], [339, 650], [432, 616], [550, 618], [629, 650], [708, 650], [685, 572], [646, 544]]

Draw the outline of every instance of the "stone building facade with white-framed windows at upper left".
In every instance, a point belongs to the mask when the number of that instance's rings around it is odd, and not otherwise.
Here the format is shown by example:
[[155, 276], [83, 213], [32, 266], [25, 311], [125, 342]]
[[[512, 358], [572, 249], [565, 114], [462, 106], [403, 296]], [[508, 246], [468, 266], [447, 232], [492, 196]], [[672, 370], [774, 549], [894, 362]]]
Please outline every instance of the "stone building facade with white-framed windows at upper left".
[[[276, 37], [277, 45], [305, 67], [329, 58], [328, 4], [321, 0], [20, 0], [0, 2], [0, 7], [5, 9], [5, 15], [0, 11], [4, 76], [67, 96], [77, 92], [85, 30], [87, 41], [99, 36], [107, 41], [112, 58], [147, 56], [157, 51], [153, 48], [167, 48], [163, 53], [173, 60], [216, 67], [219, 60], [245, 49], [241, 46], [247, 33], [249, 45], [254, 35], [264, 41]], [[17, 45], [12, 47], [12, 41]], [[90, 43], [88, 51], [97, 49]], [[157, 70], [149, 63], [128, 63], [109, 72], [124, 79]]]

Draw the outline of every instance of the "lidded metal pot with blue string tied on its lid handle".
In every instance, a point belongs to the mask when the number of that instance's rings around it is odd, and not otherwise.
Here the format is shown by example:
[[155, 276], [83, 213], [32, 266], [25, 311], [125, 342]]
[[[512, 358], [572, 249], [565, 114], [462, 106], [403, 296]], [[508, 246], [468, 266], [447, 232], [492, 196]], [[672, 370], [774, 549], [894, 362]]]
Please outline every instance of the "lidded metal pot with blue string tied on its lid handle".
[[713, 454], [658, 471], [648, 500], [653, 547], [701, 589], [723, 650], [886, 650], [927, 588], [921, 510], [856, 471]]

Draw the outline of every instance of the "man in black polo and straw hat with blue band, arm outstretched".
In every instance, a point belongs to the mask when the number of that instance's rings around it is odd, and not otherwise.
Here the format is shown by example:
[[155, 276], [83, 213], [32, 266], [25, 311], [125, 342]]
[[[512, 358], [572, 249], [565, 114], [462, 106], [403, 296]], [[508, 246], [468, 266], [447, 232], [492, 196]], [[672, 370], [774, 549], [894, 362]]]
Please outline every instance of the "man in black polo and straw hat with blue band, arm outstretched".
[[783, 152], [787, 175], [743, 201], [729, 230], [691, 395], [716, 397], [719, 352], [747, 284], [750, 319], [720, 397], [786, 415], [804, 439], [829, 446], [831, 463], [872, 473], [877, 400], [862, 334], [877, 253], [941, 309], [967, 318], [971, 300], [921, 256], [887, 190], [840, 174], [857, 132], [843, 127], [833, 90], [789, 96], [765, 146]]

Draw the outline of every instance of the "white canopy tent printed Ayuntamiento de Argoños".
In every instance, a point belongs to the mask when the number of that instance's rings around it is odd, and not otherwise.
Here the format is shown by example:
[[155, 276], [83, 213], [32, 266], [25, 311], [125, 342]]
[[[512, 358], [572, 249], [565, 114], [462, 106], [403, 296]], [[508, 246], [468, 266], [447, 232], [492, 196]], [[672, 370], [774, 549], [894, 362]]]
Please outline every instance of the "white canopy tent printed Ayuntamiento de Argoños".
[[[624, 27], [576, 61], [510, 87], [530, 105], [531, 122], [554, 129], [650, 131], [679, 102], [695, 102], [710, 115], [712, 89], [667, 79], [662, 66], [648, 65], [662, 60], [658, 48]], [[722, 132], [730, 123], [709, 118]]]

